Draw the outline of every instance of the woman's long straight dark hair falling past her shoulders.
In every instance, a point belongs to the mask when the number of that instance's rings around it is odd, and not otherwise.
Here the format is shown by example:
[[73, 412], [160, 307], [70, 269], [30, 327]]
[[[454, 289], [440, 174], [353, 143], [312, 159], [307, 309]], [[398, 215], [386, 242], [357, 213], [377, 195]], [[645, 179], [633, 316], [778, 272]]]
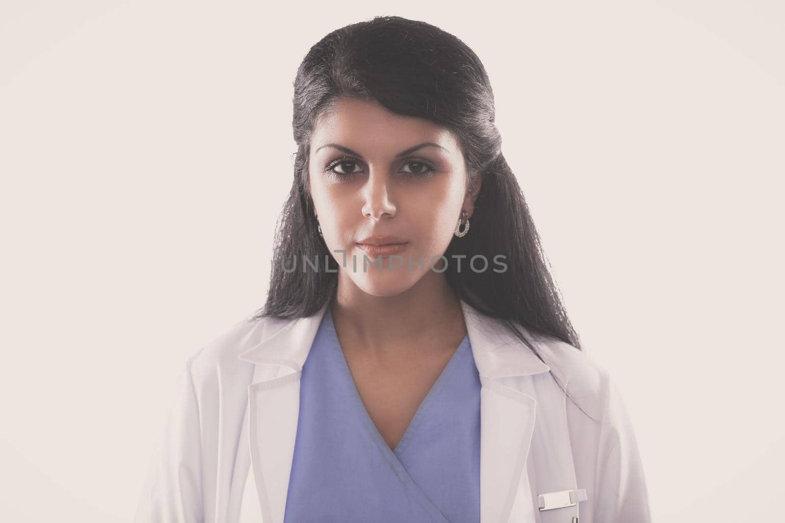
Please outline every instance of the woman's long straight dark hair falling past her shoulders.
[[[308, 190], [309, 148], [316, 120], [340, 98], [376, 100], [397, 114], [425, 118], [460, 140], [469, 177], [483, 175], [465, 237], [444, 256], [502, 254], [507, 270], [444, 274], [469, 305], [505, 325], [542, 360], [517, 325], [581, 350], [542, 252], [524, 194], [502, 154], [491, 83], [469, 46], [440, 28], [400, 16], [377, 16], [332, 31], [313, 45], [294, 80], [294, 180], [276, 224], [265, 306], [251, 320], [302, 318], [334, 296], [338, 263], [317, 232]], [[330, 271], [284, 271], [290, 260], [327, 260]]]

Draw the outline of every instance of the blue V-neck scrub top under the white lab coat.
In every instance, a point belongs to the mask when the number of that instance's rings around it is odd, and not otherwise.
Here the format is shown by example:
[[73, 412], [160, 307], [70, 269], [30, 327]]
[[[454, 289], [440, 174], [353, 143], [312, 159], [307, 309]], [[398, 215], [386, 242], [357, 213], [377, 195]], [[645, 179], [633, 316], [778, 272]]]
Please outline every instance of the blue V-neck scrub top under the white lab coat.
[[284, 521], [480, 521], [480, 375], [468, 335], [392, 450], [327, 307], [302, 369]]

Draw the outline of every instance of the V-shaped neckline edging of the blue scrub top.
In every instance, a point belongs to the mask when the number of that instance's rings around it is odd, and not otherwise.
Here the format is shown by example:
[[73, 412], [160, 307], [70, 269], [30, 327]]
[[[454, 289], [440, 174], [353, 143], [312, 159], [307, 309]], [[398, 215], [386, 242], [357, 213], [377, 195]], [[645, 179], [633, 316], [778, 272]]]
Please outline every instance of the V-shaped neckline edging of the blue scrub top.
[[330, 337], [330, 340], [333, 342], [331, 345], [338, 350], [340, 356], [339, 359], [341, 361], [341, 372], [344, 372], [345, 377], [348, 379], [349, 383], [351, 383], [351, 387], [349, 388], [352, 390], [352, 398], [355, 401], [355, 404], [360, 407], [360, 416], [363, 417], [363, 422], [367, 425], [367, 427], [370, 427], [371, 433], [374, 434], [374, 438], [384, 449], [386, 449], [386, 452], [389, 452], [389, 454], [395, 456], [396, 460], [398, 460], [400, 463], [400, 454], [407, 448], [411, 438], [414, 438], [413, 434], [416, 432], [419, 424], [422, 421], [422, 418], [425, 416], [429, 405], [432, 404], [433, 401], [436, 401], [436, 397], [438, 397], [440, 390], [444, 388], [444, 384], [447, 383], [447, 380], [458, 366], [458, 361], [460, 361], [463, 355], [466, 353], [467, 346], [469, 344], [469, 334], [467, 333], [466, 336], [463, 337], [463, 340], [461, 340], [461, 343], [458, 344], [458, 347], [456, 347], [456, 349], [453, 351], [449, 361], [447, 361], [447, 365], [444, 365], [444, 368], [436, 378], [436, 381], [428, 390], [428, 394], [425, 394], [425, 398], [423, 398], [423, 400], [420, 402], [420, 405], [418, 405], [417, 410], [414, 412], [414, 416], [412, 416], [411, 420], [409, 421], [409, 424], [406, 427], [406, 430], [404, 430], [403, 436], [396, 444], [395, 449], [390, 449], [387, 441], [385, 441], [384, 436], [382, 436], [382, 433], [379, 431], [378, 427], [376, 427], [374, 419], [371, 418], [371, 414], [368, 412], [368, 409], [363, 403], [363, 398], [360, 396], [360, 390], [357, 388], [357, 383], [354, 380], [354, 376], [352, 376], [351, 369], [349, 369], [349, 362], [346, 361], [343, 347], [341, 347], [341, 341], [338, 340], [338, 332], [335, 330], [335, 324], [333, 322], [330, 307], [327, 307], [327, 311], [325, 312], [325, 319], [327, 334]]

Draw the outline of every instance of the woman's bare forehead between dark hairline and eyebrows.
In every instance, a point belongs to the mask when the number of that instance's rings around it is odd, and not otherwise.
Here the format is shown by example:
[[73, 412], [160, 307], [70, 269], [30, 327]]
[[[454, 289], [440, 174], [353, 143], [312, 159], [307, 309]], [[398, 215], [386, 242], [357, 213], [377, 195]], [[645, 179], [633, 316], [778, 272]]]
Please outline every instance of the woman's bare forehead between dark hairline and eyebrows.
[[444, 126], [393, 113], [376, 101], [343, 98], [316, 122], [311, 151], [325, 143], [340, 143], [360, 152], [373, 149], [394, 154], [422, 142], [438, 143], [451, 154], [458, 152], [455, 133]]

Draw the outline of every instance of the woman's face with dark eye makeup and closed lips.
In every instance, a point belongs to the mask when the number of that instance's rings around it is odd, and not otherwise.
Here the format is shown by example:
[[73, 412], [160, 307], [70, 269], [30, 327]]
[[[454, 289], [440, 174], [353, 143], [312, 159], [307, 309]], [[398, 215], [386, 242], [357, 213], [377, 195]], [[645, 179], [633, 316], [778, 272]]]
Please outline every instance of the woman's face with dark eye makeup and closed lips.
[[[461, 211], [472, 215], [479, 189], [467, 194], [454, 133], [375, 101], [341, 99], [316, 123], [309, 154], [310, 191], [339, 282], [349, 277], [364, 292], [393, 296], [438, 275], [431, 267], [444, 262], [433, 258], [447, 250]], [[390, 238], [366, 239], [378, 236]]]

